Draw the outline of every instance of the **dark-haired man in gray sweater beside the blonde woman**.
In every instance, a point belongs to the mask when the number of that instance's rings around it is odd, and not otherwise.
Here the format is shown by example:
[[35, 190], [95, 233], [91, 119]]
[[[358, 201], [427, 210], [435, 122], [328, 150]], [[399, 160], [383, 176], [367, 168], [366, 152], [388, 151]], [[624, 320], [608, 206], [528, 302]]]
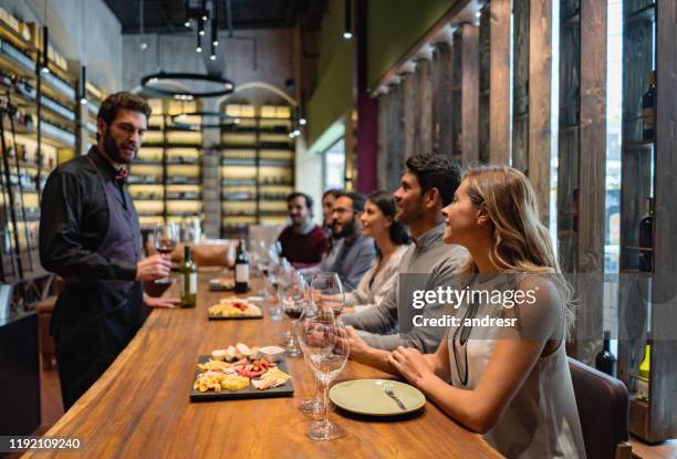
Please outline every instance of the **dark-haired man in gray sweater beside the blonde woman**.
[[[399, 282], [406, 277], [407, 290], [437, 290], [454, 285], [454, 277], [468, 260], [460, 246], [442, 242], [441, 209], [451, 202], [460, 184], [460, 169], [450, 159], [438, 155], [417, 155], [406, 161], [407, 171], [395, 191], [397, 218], [409, 227], [414, 244], [403, 257], [399, 280], [381, 304], [342, 316], [348, 327], [351, 356], [358, 362], [382, 367], [388, 352], [397, 346], [435, 353], [446, 332], [445, 326], [410, 326], [415, 311], [409, 300], [399, 302]], [[407, 274], [410, 274], [407, 277]], [[414, 275], [418, 274], [418, 275]], [[420, 275], [425, 274], [425, 275]], [[412, 285], [414, 283], [414, 285]], [[400, 317], [400, 312], [407, 319]], [[441, 317], [449, 313], [446, 304], [428, 304], [416, 311], [424, 317]], [[403, 322], [402, 327], [399, 321]]]

